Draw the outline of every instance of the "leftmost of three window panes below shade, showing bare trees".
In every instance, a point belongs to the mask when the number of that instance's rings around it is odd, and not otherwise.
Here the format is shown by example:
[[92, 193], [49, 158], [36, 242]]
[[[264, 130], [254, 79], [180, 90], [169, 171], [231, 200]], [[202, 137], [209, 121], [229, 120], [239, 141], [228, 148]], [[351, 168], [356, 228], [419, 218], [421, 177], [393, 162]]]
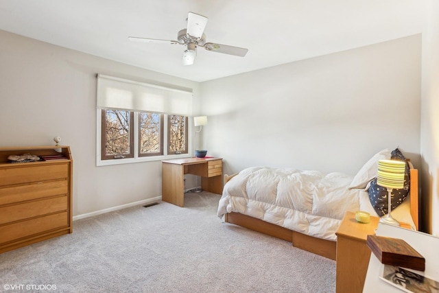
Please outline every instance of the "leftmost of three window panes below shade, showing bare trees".
[[102, 110], [104, 131], [102, 138], [102, 159], [123, 159], [132, 157], [133, 115], [124, 110]]

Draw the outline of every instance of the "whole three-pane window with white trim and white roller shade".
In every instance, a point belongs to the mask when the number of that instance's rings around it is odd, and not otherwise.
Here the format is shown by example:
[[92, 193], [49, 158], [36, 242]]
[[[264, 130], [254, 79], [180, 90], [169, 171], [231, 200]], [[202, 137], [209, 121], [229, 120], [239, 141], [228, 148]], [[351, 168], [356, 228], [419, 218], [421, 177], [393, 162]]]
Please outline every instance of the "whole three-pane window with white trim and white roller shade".
[[97, 165], [189, 154], [191, 90], [97, 75]]

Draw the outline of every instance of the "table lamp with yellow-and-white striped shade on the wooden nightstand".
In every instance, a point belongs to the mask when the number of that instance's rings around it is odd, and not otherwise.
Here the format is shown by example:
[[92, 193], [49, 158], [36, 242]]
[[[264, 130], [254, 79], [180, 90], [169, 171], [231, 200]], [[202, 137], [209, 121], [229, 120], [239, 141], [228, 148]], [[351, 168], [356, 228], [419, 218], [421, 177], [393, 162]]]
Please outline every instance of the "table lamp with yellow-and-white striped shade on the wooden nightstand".
[[388, 213], [379, 219], [380, 223], [399, 226], [399, 222], [392, 218], [392, 191], [394, 188], [404, 187], [405, 162], [396, 160], [379, 160], [377, 185], [387, 188]]

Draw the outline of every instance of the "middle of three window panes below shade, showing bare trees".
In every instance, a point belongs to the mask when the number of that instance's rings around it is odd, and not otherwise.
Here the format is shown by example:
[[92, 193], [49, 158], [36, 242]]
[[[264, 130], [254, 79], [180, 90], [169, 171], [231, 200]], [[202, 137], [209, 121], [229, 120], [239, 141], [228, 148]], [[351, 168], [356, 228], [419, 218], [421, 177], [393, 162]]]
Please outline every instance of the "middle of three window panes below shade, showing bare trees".
[[163, 154], [163, 115], [139, 113], [139, 156]]

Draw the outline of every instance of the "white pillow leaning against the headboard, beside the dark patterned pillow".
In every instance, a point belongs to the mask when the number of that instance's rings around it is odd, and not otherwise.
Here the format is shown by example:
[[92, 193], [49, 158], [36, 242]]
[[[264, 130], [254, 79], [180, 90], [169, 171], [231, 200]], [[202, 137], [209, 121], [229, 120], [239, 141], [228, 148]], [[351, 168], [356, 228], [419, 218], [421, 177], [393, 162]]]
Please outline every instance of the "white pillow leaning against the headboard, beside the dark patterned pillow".
[[357, 175], [353, 178], [351, 185], [349, 185], [349, 189], [353, 188], [359, 188], [364, 189], [366, 188], [366, 185], [373, 180], [375, 177], [377, 177], [378, 172], [378, 161], [384, 160], [384, 159], [390, 159], [391, 151], [387, 148], [384, 150], [381, 150], [380, 152], [377, 152], [372, 158], [367, 161], [366, 164], [364, 164], [363, 167], [359, 170]]

